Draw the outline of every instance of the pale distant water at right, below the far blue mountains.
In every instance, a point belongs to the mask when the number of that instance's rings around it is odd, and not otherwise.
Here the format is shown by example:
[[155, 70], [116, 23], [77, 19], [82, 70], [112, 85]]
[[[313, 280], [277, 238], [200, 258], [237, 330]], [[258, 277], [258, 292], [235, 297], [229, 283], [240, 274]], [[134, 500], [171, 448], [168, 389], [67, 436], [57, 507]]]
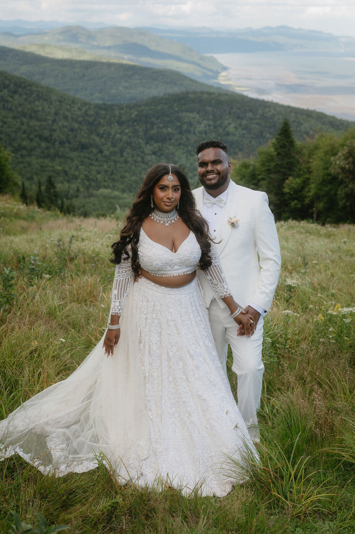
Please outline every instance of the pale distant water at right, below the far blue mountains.
[[213, 54], [220, 82], [244, 95], [355, 121], [355, 57], [332, 52]]

